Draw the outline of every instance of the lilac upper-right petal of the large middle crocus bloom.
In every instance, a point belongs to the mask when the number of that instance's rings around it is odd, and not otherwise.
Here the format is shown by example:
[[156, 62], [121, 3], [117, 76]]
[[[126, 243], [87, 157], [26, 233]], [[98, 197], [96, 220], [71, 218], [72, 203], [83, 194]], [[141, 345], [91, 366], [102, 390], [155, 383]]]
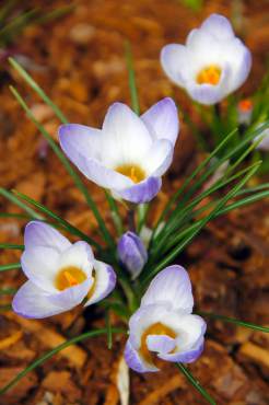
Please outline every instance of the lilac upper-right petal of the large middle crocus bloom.
[[161, 100], [149, 108], [141, 119], [144, 121], [151, 135], [157, 139], [168, 139], [175, 146], [179, 120], [174, 101], [171, 97]]

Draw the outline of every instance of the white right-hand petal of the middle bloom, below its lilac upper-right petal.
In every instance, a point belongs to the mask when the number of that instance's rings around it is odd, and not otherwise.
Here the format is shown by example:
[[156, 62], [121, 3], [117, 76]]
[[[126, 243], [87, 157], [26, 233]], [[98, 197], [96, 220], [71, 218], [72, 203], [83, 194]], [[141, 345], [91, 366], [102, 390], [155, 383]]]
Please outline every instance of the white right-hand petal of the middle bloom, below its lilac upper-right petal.
[[153, 142], [145, 154], [144, 169], [150, 176], [161, 177], [173, 161], [174, 147], [167, 139]]

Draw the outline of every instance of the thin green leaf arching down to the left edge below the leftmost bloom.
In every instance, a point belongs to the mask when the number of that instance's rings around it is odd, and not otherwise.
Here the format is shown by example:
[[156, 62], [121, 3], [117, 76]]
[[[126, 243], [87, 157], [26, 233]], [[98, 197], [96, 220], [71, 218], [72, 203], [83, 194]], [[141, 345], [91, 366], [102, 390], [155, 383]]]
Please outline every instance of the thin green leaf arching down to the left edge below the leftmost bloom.
[[[74, 345], [79, 342], [85, 340], [90, 337], [100, 336], [106, 334], [107, 329], [95, 329], [83, 333], [82, 335], [75, 336], [61, 345], [55, 347], [52, 350], [47, 351], [44, 356], [39, 357], [37, 360], [32, 362], [28, 367], [26, 367], [23, 371], [21, 371], [13, 380], [11, 380], [7, 385], [0, 389], [0, 394], [4, 394], [9, 391], [12, 386], [14, 386], [24, 375], [26, 375], [30, 371], [34, 370], [36, 367], [43, 364], [46, 360], [50, 359], [54, 355], [58, 354], [59, 351], [63, 350], [66, 347]], [[113, 328], [112, 333], [125, 333], [124, 329], [120, 328]]]

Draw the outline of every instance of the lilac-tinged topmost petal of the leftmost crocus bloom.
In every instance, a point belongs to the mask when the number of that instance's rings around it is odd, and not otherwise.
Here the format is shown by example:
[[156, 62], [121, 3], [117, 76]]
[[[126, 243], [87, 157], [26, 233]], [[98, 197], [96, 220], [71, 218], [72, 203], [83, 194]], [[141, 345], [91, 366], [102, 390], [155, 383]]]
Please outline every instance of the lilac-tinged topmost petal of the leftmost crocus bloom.
[[31, 221], [25, 227], [24, 245], [25, 248], [44, 246], [62, 252], [71, 246], [71, 243], [66, 236], [47, 223]]

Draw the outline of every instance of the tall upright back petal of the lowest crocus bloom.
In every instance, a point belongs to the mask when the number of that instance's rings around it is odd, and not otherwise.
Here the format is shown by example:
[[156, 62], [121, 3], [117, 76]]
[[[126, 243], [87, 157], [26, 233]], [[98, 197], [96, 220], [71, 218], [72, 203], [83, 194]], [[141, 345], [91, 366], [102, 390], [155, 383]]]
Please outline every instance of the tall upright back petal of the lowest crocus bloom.
[[151, 281], [145, 291], [141, 306], [168, 302], [173, 310], [190, 313], [194, 297], [188, 273], [182, 266], [168, 266]]

